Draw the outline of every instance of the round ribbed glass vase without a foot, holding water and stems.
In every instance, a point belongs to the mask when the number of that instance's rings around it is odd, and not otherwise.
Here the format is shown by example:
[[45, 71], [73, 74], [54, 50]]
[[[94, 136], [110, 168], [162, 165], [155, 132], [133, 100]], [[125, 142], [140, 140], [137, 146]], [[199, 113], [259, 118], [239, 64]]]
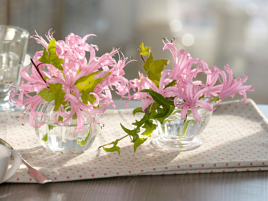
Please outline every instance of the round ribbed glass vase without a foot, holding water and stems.
[[[70, 107], [66, 107], [68, 113]], [[99, 131], [97, 123], [91, 123], [90, 118], [82, 112], [84, 120], [84, 131], [77, 132], [77, 119], [73, 117], [69, 123], [59, 125], [55, 122], [54, 102], [43, 101], [38, 105], [36, 111], [45, 113], [48, 117], [40, 128], [35, 128], [38, 141], [43, 147], [56, 153], [79, 154], [87, 150], [96, 138]], [[98, 114], [92, 114], [99, 118]], [[58, 117], [60, 118], [60, 117]], [[36, 121], [44, 121], [44, 117], [35, 117]], [[58, 121], [62, 121], [59, 120]], [[38, 126], [37, 124], [35, 126]]]

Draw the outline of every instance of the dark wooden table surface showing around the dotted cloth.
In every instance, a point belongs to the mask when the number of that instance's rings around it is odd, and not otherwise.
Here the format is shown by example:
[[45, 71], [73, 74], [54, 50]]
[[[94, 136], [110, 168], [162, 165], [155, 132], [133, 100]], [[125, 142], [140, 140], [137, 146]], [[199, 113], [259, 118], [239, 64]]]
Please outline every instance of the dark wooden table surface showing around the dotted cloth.
[[[139, 107], [131, 102], [130, 108]], [[119, 104], [123, 108], [123, 104]], [[268, 105], [258, 105], [268, 118]], [[4, 201], [260, 201], [268, 200], [268, 171], [123, 176], [47, 184], [2, 183]]]

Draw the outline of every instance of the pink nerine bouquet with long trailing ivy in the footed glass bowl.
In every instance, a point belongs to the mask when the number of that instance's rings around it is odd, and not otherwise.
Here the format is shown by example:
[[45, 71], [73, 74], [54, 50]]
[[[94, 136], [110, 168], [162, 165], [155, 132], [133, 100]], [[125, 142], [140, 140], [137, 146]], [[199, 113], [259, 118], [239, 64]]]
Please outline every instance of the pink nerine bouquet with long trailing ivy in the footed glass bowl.
[[[144, 61], [143, 68], [147, 71], [147, 76], [139, 72], [138, 79], [129, 81], [128, 96], [122, 97], [128, 98], [128, 101], [132, 98], [141, 100], [142, 107], [134, 109], [133, 115], [140, 112], [144, 116], [141, 120], [132, 123], [136, 126], [133, 130], [129, 130], [121, 124], [127, 135], [106, 144], [112, 144], [111, 148], [105, 148], [106, 145], [101, 146], [106, 151], [120, 153], [120, 147], [116, 146], [118, 141], [130, 136], [135, 152], [137, 147], [147, 139], [142, 136], [150, 137], [157, 128], [155, 122], [163, 124], [163, 120], [174, 112], [179, 112], [181, 120], [184, 121], [187, 120], [187, 115], [191, 114], [198, 123], [200, 121], [198, 108], [213, 111], [215, 104], [211, 103], [218, 104], [228, 96], [234, 97], [236, 93], [244, 96], [243, 100], [240, 100], [244, 103], [247, 99], [246, 91], [254, 91], [251, 85], [244, 85], [248, 76], [233, 77], [233, 71], [228, 65], [225, 66], [225, 71], [215, 66], [209, 67], [206, 62], [192, 58], [183, 49], [178, 51], [175, 41], [175, 38], [167, 42], [166, 39], [163, 39], [163, 51], [169, 50], [174, 59], [173, 70], [163, 70], [169, 64], [169, 60], [154, 60], [151, 47], [144, 47], [144, 44], [141, 43], [138, 50]], [[147, 55], [145, 60], [143, 56]], [[200, 73], [206, 75], [205, 83], [195, 79]], [[175, 110], [175, 108], [177, 109]], [[188, 123], [185, 124], [184, 130], [187, 125]]]

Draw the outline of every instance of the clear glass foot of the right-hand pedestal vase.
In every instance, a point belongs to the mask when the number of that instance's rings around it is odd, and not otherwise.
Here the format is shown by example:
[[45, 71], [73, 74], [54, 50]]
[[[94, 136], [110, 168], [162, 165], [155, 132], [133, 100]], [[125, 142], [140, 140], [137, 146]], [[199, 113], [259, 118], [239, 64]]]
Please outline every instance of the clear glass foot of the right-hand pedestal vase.
[[162, 139], [160, 136], [152, 140], [152, 145], [158, 149], [169, 151], [190, 151], [198, 148], [202, 144], [202, 140], [194, 137], [192, 139], [174, 141]]

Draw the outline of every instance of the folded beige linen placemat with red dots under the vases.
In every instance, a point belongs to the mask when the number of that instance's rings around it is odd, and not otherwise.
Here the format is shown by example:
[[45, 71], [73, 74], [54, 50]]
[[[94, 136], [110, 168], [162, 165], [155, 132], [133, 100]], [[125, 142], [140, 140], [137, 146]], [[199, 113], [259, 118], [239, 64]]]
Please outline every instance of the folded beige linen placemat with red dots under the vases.
[[[1, 113], [0, 137], [18, 150], [33, 167], [53, 182], [129, 175], [164, 175], [268, 170], [268, 121], [252, 100], [221, 103], [206, 129], [203, 144], [186, 152], [154, 148], [149, 138], [133, 155], [129, 139], [119, 142], [121, 154], [98, 150], [98, 146], [124, 136], [120, 123], [131, 128], [139, 114], [132, 109], [107, 110], [101, 116], [105, 127], [83, 154], [56, 154], [37, 141], [34, 128], [15, 120], [17, 113]], [[24, 164], [7, 182], [35, 183]]]

